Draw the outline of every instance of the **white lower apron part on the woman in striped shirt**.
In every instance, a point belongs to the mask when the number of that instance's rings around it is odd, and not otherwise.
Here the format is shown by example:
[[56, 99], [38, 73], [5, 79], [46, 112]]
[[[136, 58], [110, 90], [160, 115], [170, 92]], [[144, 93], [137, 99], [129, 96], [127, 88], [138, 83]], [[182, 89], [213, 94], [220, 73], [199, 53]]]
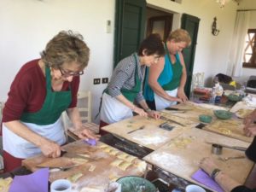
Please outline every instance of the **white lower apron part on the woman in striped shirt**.
[[123, 119], [131, 118], [133, 116], [131, 108], [128, 108], [116, 98], [103, 93], [101, 120], [105, 123], [112, 124]]

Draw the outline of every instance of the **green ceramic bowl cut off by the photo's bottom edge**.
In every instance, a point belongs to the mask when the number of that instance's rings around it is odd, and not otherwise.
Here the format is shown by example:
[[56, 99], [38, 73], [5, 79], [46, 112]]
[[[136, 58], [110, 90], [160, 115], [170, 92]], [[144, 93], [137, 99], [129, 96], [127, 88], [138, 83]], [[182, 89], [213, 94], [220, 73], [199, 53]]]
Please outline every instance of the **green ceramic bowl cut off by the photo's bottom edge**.
[[147, 179], [137, 176], [121, 177], [117, 180], [117, 183], [122, 184], [121, 192], [138, 192], [140, 187], [145, 184], [145, 192], [155, 192], [156, 188], [153, 183], [150, 183]]

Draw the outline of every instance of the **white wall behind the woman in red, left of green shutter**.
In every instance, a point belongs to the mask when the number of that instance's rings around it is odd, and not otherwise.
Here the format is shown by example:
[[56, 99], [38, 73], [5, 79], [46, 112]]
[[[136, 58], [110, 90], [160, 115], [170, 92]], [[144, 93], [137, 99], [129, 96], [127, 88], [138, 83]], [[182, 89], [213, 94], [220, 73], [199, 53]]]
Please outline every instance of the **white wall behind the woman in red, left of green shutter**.
[[[26, 62], [39, 57], [45, 44], [61, 30], [84, 36], [90, 62], [81, 76], [80, 90], [93, 94], [95, 116], [106, 84], [94, 78], [111, 77], [113, 70], [113, 21], [115, 0], [1, 0], [0, 3], [0, 101], [7, 99], [15, 74]], [[112, 32], [106, 32], [107, 20]]]

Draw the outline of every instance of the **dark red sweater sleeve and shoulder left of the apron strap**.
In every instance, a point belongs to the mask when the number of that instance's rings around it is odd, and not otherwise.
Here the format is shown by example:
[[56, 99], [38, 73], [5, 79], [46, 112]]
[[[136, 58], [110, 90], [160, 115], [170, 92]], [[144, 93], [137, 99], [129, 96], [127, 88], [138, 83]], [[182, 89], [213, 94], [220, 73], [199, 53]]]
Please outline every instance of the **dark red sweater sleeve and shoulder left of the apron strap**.
[[46, 89], [38, 60], [30, 61], [20, 68], [11, 84], [8, 100], [3, 108], [3, 122], [19, 120], [24, 112], [37, 112], [42, 108]]

